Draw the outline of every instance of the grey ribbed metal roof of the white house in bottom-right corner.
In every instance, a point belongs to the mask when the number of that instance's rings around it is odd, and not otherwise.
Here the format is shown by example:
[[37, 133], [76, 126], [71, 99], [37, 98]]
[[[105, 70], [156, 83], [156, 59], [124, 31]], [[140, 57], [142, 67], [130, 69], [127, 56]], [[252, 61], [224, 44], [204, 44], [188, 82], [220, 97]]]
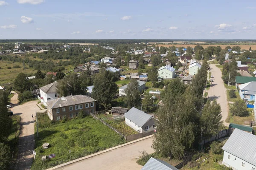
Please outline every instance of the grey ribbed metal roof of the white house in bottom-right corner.
[[256, 136], [235, 129], [222, 149], [256, 166]]

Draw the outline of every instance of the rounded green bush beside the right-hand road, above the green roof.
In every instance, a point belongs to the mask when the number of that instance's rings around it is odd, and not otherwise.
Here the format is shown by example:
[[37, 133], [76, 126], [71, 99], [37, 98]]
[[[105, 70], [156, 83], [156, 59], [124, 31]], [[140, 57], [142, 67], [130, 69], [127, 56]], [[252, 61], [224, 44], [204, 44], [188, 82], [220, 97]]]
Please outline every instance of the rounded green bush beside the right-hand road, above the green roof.
[[237, 100], [233, 105], [230, 107], [230, 113], [233, 116], [248, 116], [249, 112], [246, 109], [246, 105], [244, 101]]

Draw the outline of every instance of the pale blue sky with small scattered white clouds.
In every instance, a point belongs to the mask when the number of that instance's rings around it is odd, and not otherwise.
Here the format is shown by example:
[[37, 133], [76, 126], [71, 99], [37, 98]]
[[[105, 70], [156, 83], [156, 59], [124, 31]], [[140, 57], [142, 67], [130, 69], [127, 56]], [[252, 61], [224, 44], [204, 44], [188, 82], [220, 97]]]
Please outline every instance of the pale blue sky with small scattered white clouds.
[[0, 0], [0, 39], [256, 39], [255, 0]]

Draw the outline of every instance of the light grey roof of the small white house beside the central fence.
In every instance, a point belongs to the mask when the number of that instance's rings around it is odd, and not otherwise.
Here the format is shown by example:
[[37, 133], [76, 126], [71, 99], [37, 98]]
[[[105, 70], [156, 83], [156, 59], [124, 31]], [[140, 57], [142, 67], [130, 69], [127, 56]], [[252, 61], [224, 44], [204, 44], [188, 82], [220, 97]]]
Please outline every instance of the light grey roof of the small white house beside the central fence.
[[125, 113], [125, 117], [131, 120], [131, 122], [134, 122], [136, 125], [142, 127], [152, 116], [133, 107], [127, 113]]

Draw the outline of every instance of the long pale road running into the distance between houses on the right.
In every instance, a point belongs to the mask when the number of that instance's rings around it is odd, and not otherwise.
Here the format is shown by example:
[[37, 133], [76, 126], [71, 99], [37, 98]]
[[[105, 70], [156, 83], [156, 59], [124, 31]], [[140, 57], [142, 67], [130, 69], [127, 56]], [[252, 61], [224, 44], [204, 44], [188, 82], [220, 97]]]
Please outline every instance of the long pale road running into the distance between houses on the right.
[[212, 68], [211, 73], [214, 78], [210, 78], [213, 79], [213, 82], [208, 91], [208, 97], [212, 100], [216, 99], [221, 105], [221, 120], [223, 120], [225, 126], [228, 126], [229, 123], [225, 122], [228, 116], [227, 90], [224, 86], [223, 80], [221, 79], [221, 70], [213, 64], [210, 65], [210, 68]]

